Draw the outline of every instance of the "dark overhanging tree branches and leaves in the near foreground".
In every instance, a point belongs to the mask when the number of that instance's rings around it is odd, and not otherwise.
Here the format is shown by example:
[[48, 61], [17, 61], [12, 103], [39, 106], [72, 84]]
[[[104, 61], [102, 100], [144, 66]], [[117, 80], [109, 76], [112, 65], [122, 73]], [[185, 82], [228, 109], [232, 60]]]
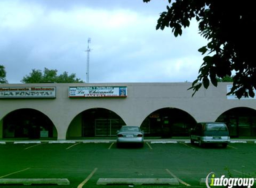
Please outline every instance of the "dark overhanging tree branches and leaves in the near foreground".
[[[143, 0], [149, 2], [151, 0]], [[217, 78], [233, 77], [233, 87], [229, 94], [254, 97], [256, 89], [256, 11], [251, 0], [176, 0], [167, 6], [157, 21], [156, 29], [170, 27], [175, 37], [182, 35], [182, 27], [189, 27], [192, 18], [198, 22], [199, 33], [208, 40], [198, 51], [203, 55], [193, 94], [210, 82], [218, 85]], [[251, 44], [252, 45], [251, 45]]]

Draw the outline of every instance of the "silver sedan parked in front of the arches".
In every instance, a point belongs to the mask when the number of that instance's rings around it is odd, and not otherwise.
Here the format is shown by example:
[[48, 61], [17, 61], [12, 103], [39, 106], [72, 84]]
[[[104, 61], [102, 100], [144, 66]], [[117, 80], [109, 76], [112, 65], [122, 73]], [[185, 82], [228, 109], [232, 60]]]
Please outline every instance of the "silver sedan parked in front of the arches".
[[117, 146], [120, 143], [138, 143], [143, 147], [144, 132], [136, 126], [122, 126], [120, 131], [117, 132]]

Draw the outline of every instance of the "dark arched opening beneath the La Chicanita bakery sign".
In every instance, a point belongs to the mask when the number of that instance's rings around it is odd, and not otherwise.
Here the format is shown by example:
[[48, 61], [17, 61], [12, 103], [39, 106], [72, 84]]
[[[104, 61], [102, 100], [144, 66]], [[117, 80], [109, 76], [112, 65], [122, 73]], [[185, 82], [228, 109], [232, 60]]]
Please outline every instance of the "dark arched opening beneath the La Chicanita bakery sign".
[[126, 125], [115, 112], [105, 108], [85, 110], [71, 121], [67, 130], [67, 139], [77, 137], [111, 137]]

